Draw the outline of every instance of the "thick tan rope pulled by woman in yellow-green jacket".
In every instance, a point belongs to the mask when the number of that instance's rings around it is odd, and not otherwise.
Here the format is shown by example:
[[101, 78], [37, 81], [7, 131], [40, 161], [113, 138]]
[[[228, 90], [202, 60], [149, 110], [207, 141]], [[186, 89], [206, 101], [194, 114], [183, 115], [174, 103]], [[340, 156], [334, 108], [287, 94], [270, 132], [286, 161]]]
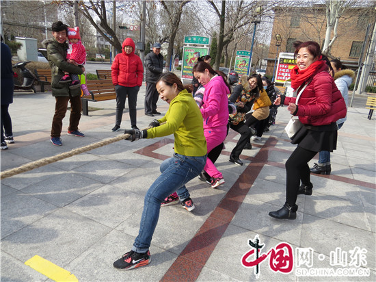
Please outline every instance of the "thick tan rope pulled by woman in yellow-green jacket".
[[[151, 127], [147, 127], [146, 129], [149, 129]], [[53, 162], [60, 161], [62, 159], [66, 159], [67, 157], [72, 157], [74, 155], [79, 155], [81, 153], [85, 153], [87, 151], [90, 151], [92, 149], [99, 148], [101, 146], [105, 146], [108, 144], [111, 144], [113, 142], [118, 142], [120, 140], [124, 140], [131, 136], [131, 134], [122, 134], [120, 136], [116, 136], [113, 138], [105, 139], [100, 142], [96, 142], [94, 144], [90, 144], [88, 146], [83, 146], [81, 148], [72, 149], [69, 152], [61, 153], [59, 155], [54, 155], [52, 157], [44, 157], [43, 159], [38, 159], [35, 162], [31, 162], [29, 164], [24, 164], [23, 166], [19, 166], [18, 168], [12, 168], [10, 170], [5, 170], [1, 172], [1, 178], [5, 179], [7, 177], [12, 177], [14, 175], [18, 175], [22, 172], [27, 172], [29, 170], [33, 170], [34, 168], [40, 168], [41, 166], [45, 166], [46, 164], [52, 164]]]

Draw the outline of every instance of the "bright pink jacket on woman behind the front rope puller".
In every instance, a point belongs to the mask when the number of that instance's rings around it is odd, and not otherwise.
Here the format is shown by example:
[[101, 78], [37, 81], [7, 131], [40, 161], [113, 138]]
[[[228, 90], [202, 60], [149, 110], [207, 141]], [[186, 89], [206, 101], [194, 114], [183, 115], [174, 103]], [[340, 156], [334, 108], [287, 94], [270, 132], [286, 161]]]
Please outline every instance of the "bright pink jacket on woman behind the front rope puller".
[[228, 98], [230, 94], [224, 79], [218, 75], [205, 86], [203, 104], [200, 109], [204, 118], [204, 129], [227, 131]]

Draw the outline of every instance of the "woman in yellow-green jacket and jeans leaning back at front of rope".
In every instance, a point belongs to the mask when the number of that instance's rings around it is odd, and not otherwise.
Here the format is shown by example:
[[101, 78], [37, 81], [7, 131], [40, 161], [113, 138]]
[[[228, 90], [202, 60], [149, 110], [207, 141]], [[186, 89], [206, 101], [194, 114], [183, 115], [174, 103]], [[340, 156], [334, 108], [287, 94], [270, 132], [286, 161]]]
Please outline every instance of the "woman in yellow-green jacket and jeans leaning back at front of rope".
[[174, 157], [166, 159], [161, 164], [161, 175], [146, 192], [139, 233], [132, 250], [113, 263], [115, 268], [122, 270], [150, 263], [150, 242], [157, 226], [161, 203], [168, 195], [176, 191], [181, 205], [189, 211], [194, 209], [185, 184], [200, 175], [206, 163], [202, 115], [192, 94], [185, 90], [174, 73], [163, 73], [157, 81], [157, 90], [159, 97], [170, 104], [165, 116], [153, 120], [150, 123], [151, 129], [125, 130], [124, 133], [130, 134], [126, 140], [131, 141], [169, 136], [174, 133], [175, 153]]

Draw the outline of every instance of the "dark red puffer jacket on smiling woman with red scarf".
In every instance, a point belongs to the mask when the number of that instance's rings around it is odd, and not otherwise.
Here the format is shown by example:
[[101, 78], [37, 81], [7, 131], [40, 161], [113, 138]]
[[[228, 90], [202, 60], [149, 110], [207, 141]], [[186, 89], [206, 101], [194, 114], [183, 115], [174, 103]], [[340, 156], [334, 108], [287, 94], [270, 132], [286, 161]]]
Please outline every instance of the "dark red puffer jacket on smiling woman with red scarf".
[[[295, 103], [296, 97], [286, 97], [284, 105]], [[333, 77], [327, 71], [319, 71], [301, 93], [295, 116], [304, 125], [330, 125], [346, 116], [345, 100]]]

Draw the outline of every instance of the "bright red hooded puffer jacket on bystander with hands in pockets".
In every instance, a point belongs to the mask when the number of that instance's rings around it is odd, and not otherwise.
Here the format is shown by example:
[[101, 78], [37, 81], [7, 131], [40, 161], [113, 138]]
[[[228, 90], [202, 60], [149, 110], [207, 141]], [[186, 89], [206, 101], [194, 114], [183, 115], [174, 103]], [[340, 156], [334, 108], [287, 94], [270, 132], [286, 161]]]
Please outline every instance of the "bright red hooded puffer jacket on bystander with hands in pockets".
[[[125, 46], [131, 46], [133, 51], [125, 53]], [[139, 56], [135, 55], [135, 42], [132, 38], [126, 38], [122, 44], [122, 53], [116, 55], [111, 66], [112, 83], [126, 87], [142, 86], [143, 74], [144, 66]]]

